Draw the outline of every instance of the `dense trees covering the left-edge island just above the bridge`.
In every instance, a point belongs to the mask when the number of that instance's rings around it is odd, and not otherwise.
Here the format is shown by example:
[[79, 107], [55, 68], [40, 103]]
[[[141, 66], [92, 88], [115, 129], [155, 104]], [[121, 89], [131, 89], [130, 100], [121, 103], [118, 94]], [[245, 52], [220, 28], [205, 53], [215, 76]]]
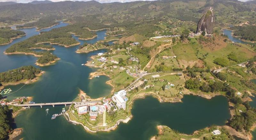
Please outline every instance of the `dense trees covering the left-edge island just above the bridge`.
[[36, 77], [41, 72], [34, 66], [22, 66], [17, 69], [0, 73], [0, 82], [18, 82], [20, 80], [29, 80]]

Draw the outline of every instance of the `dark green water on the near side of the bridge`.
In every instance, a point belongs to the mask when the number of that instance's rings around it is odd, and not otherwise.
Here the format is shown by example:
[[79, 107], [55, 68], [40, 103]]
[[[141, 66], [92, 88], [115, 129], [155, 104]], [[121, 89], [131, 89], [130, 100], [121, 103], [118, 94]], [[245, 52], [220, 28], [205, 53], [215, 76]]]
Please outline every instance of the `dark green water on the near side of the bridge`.
[[[15, 118], [18, 127], [24, 128], [20, 137], [25, 139], [138, 139], [147, 140], [156, 135], [156, 125], [166, 125], [182, 133], [210, 125], [225, 125], [230, 118], [227, 98], [213, 97], [208, 100], [198, 96], [185, 95], [182, 103], [160, 103], [148, 96], [135, 100], [132, 107], [133, 118], [127, 124], [121, 123], [111, 132], [88, 133], [80, 125], [73, 125], [58, 117], [55, 120], [46, 115], [43, 107], [32, 107]], [[49, 114], [62, 106], [49, 107]], [[58, 109], [57, 109], [58, 108]], [[38, 121], [40, 120], [40, 121]]]

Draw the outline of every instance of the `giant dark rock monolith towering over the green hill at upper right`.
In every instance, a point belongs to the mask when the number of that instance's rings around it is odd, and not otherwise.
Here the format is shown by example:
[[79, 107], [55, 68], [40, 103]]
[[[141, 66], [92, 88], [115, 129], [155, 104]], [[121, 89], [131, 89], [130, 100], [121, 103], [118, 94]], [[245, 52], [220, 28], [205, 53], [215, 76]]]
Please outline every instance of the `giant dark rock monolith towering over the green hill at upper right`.
[[206, 35], [212, 34], [213, 22], [214, 22], [214, 14], [213, 14], [212, 7], [210, 7], [210, 9], [207, 12], [205, 12], [205, 14], [199, 20], [197, 24], [196, 33], [205, 31]]

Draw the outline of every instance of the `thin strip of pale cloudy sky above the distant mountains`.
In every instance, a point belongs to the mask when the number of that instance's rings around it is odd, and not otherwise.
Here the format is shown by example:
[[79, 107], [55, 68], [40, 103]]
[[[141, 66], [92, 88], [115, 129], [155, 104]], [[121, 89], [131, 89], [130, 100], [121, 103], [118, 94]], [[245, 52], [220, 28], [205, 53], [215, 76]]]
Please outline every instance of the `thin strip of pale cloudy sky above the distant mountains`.
[[[16, 2], [16, 3], [28, 3], [28, 2], [32, 2], [34, 0], [0, 0], [0, 2]], [[42, 1], [42, 0], [38, 0], [38, 1]], [[65, 0], [51, 0], [52, 2], [59, 2], [59, 1], [65, 1]], [[72, 1], [91, 1], [91, 0], [72, 0]], [[100, 3], [111, 3], [111, 2], [131, 2], [131, 1], [138, 1], [138, 0], [96, 0]], [[145, 1], [145, 0], [140, 0], [140, 1]], [[148, 1], [153, 1], [153, 0], [148, 0]], [[248, 1], [248, 0], [239, 0], [239, 1]]]

